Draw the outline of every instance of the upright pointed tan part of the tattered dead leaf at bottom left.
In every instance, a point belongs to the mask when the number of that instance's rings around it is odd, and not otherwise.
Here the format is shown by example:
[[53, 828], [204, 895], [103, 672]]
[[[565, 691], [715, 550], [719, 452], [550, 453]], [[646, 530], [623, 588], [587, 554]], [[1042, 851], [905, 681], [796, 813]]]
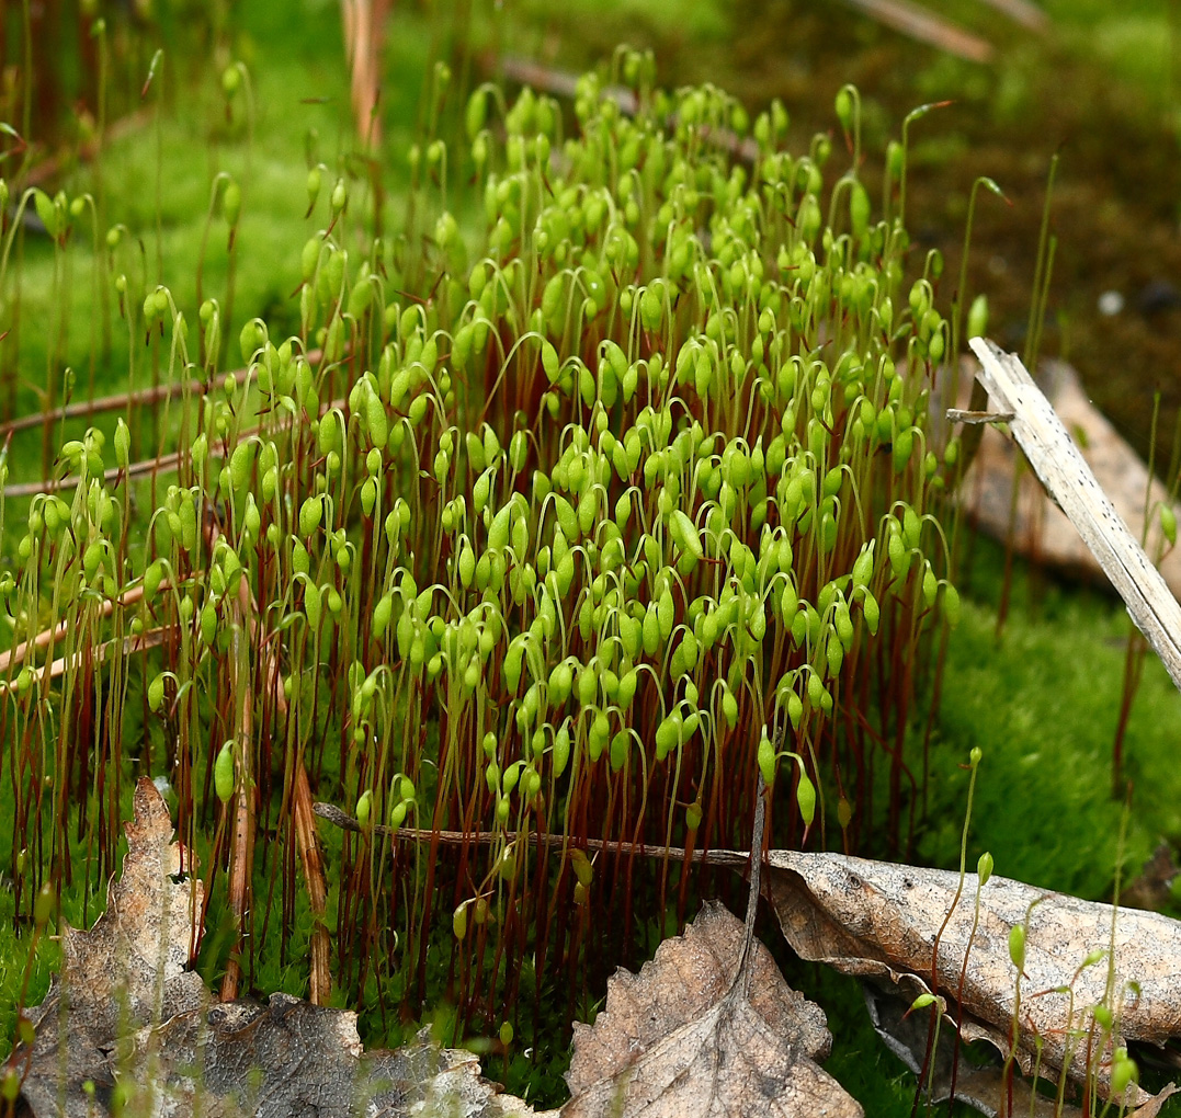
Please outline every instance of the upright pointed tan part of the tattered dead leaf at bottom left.
[[107, 885], [106, 910], [90, 931], [63, 921], [63, 972], [28, 1011], [32, 1051], [18, 1048], [9, 1058], [38, 1116], [92, 1113], [83, 1084], [111, 1086], [112, 1040], [203, 1000], [201, 979], [184, 969], [200, 940], [193, 913], [202, 887], [183, 878], [189, 855], [172, 843], [168, 808], [151, 780], [136, 785], [135, 819], [123, 828], [128, 855], [122, 878]]

